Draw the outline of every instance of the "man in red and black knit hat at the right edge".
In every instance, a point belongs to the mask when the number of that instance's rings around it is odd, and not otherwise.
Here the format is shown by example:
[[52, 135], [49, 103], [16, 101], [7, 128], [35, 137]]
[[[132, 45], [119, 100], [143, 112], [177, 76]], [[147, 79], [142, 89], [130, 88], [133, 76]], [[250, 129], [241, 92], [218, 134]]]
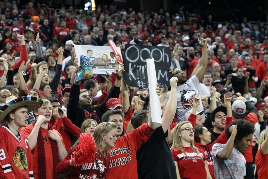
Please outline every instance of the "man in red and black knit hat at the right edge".
[[255, 132], [254, 134], [256, 135], [255, 137], [257, 139], [259, 139], [261, 130], [264, 130], [265, 128], [268, 129], [268, 123], [267, 123], [267, 119], [268, 119], [268, 105], [266, 104], [266, 102], [264, 100], [258, 101], [255, 105], [258, 113], [259, 111], [261, 111], [263, 113], [263, 118], [260, 119], [259, 117], [259, 121], [256, 122], [255, 124]]

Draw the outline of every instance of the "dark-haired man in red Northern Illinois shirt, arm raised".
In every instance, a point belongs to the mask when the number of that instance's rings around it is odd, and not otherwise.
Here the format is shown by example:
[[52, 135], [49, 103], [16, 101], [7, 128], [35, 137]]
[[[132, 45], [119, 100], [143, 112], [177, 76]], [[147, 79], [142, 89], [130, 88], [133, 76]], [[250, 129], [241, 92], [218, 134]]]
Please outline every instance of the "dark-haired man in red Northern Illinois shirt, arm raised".
[[[159, 93], [158, 89], [157, 93]], [[136, 103], [138, 102], [136, 101]], [[136, 151], [158, 127], [152, 123], [151, 113], [149, 112], [148, 123], [142, 124], [132, 132], [121, 136], [124, 126], [123, 118], [123, 113], [120, 110], [109, 110], [102, 115], [102, 122], [114, 122], [116, 124], [118, 138], [115, 147], [110, 149], [109, 152], [110, 161], [107, 178], [138, 178]]]

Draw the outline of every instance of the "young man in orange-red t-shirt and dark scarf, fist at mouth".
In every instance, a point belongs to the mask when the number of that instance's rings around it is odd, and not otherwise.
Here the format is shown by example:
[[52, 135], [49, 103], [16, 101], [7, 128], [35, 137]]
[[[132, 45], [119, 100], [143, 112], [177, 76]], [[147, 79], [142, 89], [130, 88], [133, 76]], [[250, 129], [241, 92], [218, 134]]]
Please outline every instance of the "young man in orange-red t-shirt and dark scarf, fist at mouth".
[[66, 157], [67, 151], [60, 133], [49, 125], [52, 117], [51, 102], [43, 99], [42, 106], [34, 110], [34, 114], [35, 122], [22, 127], [21, 133], [28, 136], [35, 178], [59, 178], [56, 166]]

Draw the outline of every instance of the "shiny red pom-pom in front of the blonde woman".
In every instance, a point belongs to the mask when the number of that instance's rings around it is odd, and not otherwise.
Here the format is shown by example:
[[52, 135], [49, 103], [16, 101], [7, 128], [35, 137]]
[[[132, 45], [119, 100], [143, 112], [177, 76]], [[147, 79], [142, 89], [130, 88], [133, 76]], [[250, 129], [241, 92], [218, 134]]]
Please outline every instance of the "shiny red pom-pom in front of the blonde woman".
[[79, 147], [72, 155], [74, 166], [81, 166], [85, 163], [92, 163], [96, 157], [96, 143], [94, 137], [89, 133], [80, 134]]

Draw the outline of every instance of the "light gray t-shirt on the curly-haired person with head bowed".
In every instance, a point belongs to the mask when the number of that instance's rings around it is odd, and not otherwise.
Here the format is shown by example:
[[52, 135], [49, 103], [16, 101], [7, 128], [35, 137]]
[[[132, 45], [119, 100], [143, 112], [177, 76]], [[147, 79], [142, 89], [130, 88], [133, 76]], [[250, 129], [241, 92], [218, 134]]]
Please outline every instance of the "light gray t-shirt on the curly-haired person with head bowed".
[[241, 152], [233, 148], [227, 160], [216, 157], [219, 150], [223, 149], [225, 145], [216, 143], [212, 147], [215, 179], [242, 179], [246, 175], [246, 159]]

